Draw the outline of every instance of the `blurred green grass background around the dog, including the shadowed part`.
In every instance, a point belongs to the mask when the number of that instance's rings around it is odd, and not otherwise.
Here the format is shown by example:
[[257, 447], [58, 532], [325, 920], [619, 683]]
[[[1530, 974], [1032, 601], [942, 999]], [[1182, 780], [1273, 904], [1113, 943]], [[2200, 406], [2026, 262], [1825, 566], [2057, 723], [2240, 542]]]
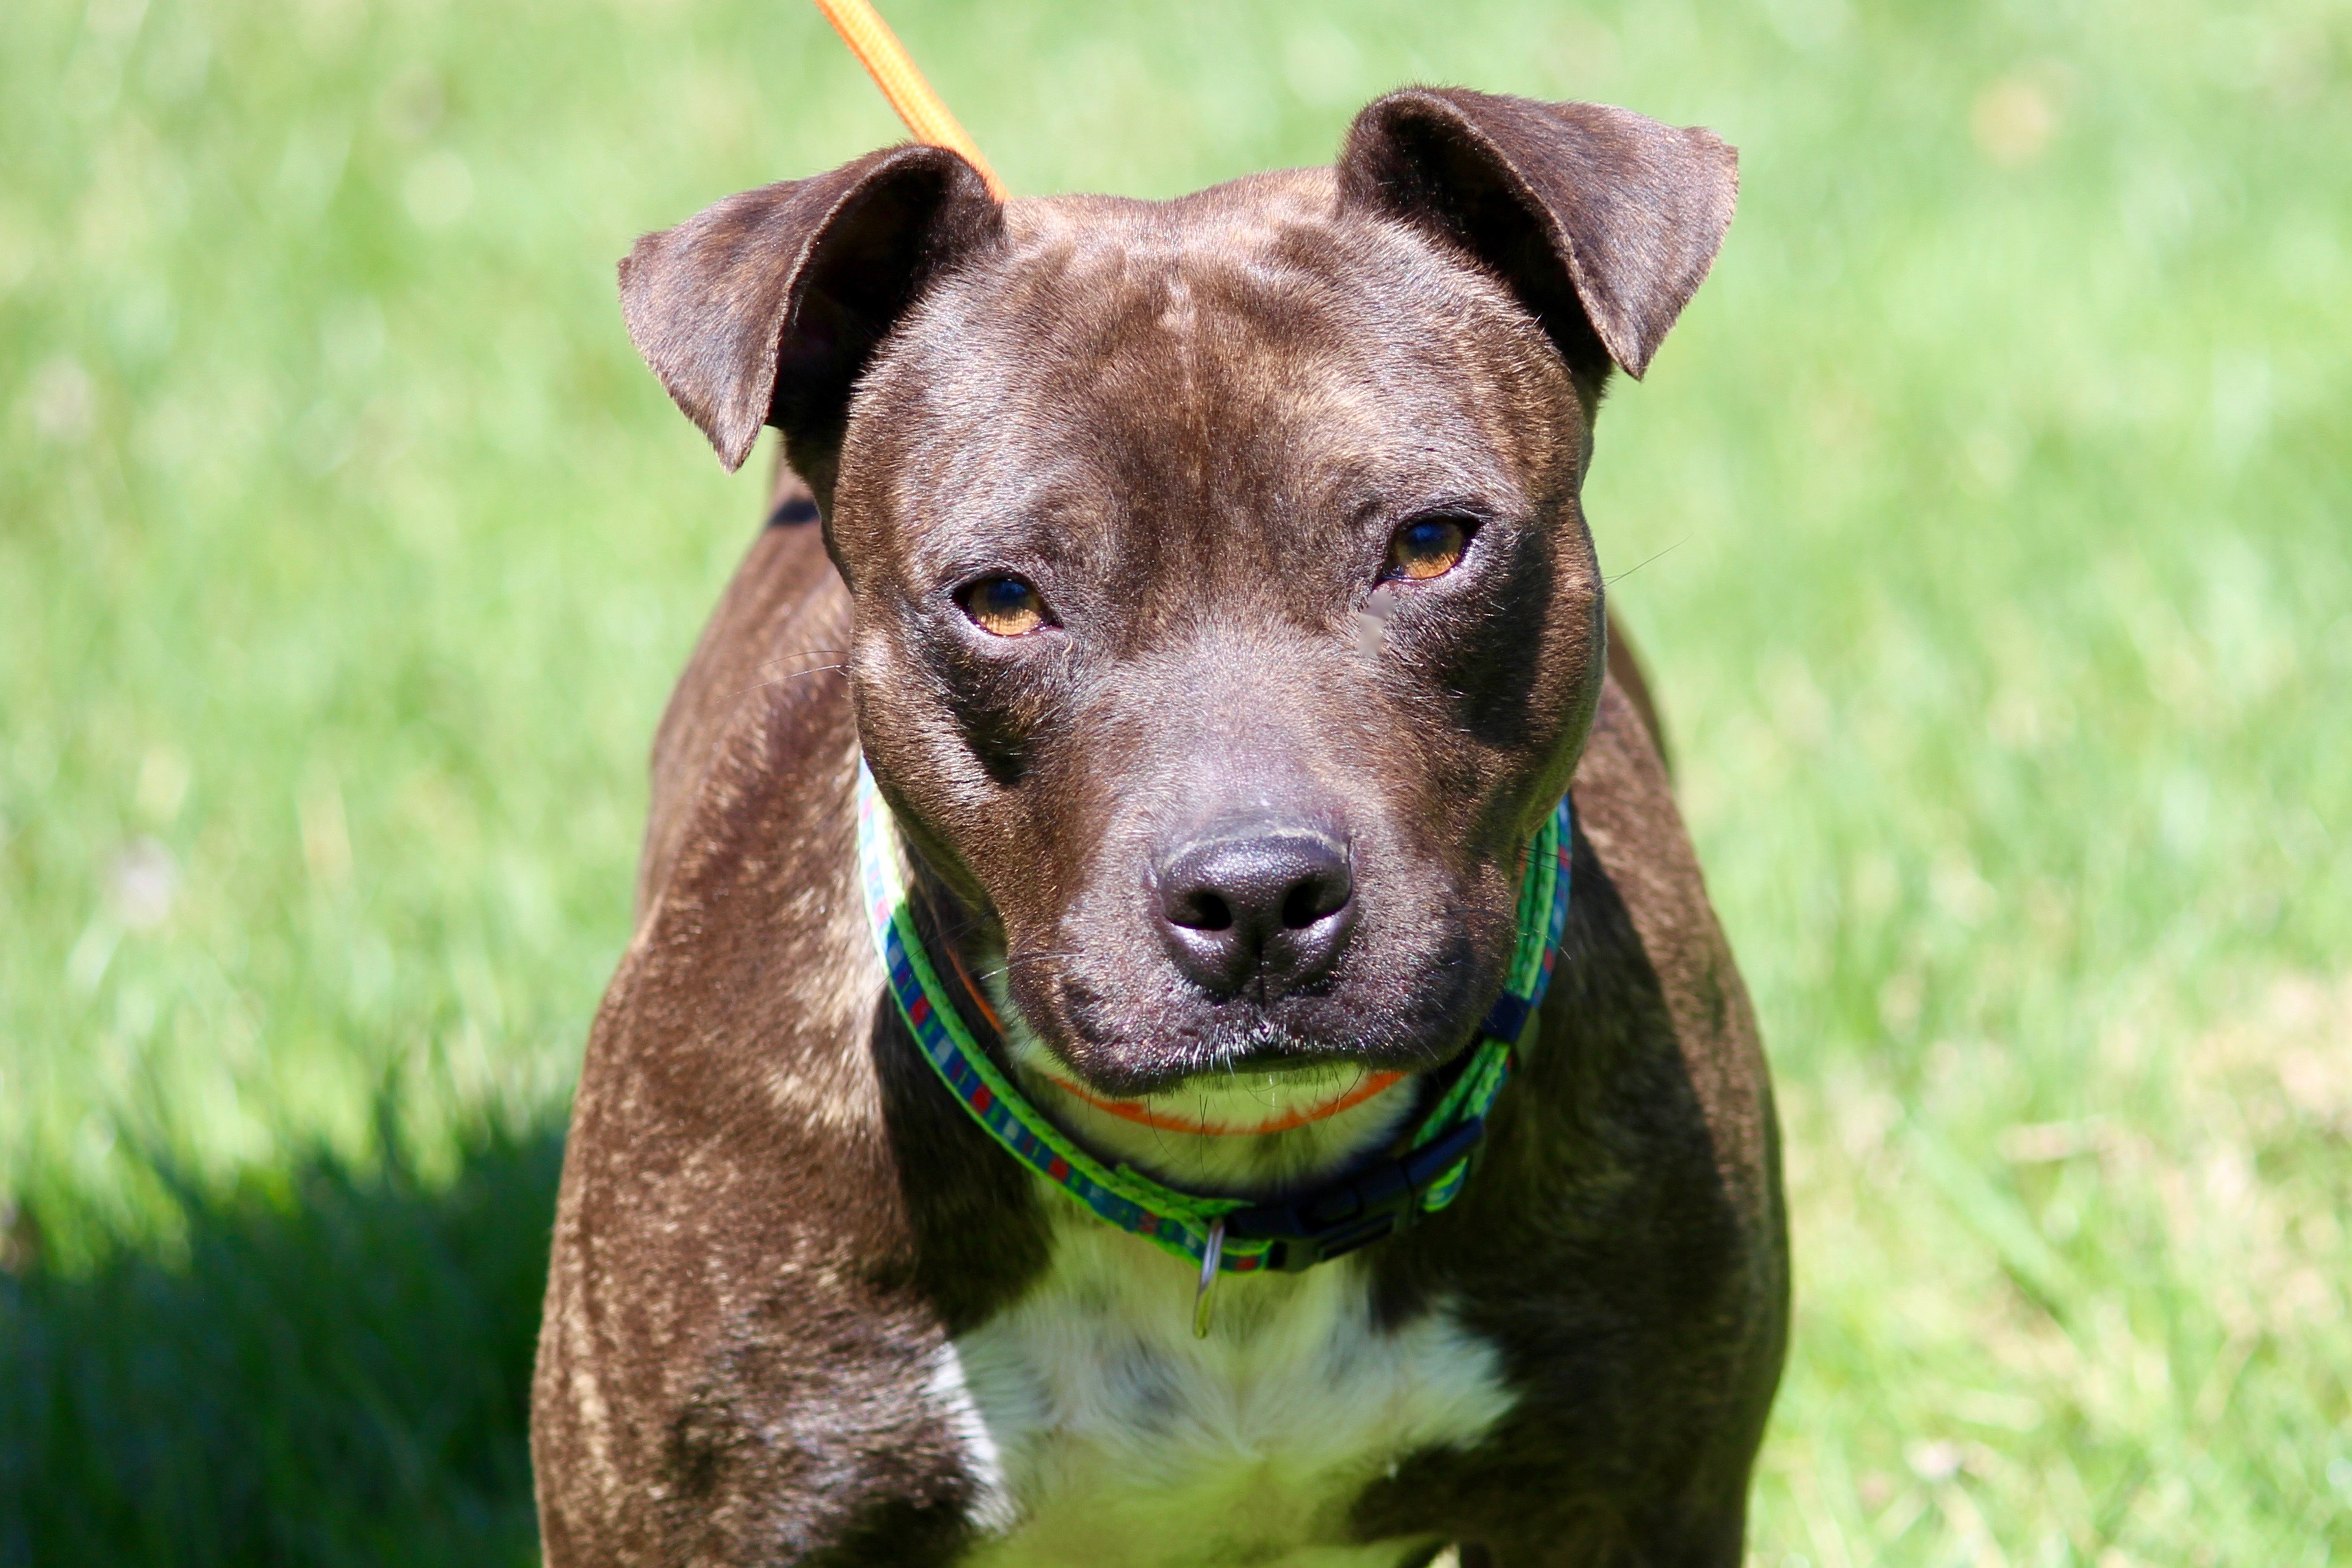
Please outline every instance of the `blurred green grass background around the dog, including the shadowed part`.
[[[1743, 148], [1588, 503], [1790, 1135], [1755, 1561], [2352, 1561], [2352, 7], [889, 14], [1030, 193], [1404, 80]], [[790, 0], [0, 7], [0, 1563], [532, 1561], [764, 470], [612, 263], [894, 139]]]

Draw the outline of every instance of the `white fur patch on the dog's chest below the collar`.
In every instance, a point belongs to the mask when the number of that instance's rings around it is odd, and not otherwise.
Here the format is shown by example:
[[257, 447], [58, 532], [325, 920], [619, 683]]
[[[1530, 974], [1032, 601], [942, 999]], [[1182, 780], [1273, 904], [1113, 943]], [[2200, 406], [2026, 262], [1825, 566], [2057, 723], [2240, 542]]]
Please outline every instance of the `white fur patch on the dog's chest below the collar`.
[[1414, 1542], [1348, 1544], [1357, 1493], [1510, 1408], [1494, 1347], [1446, 1312], [1378, 1328], [1357, 1258], [1228, 1274], [1197, 1340], [1190, 1267], [1044, 1201], [1047, 1279], [938, 1368], [990, 1483], [974, 1563], [1388, 1568]]

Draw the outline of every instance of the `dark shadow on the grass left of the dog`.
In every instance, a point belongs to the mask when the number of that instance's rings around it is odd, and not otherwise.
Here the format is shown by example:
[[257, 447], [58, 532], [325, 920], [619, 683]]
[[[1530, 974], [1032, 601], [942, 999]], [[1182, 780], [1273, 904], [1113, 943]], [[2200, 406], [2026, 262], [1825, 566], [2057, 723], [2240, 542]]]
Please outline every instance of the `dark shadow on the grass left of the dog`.
[[183, 1260], [0, 1274], [0, 1566], [532, 1563], [557, 1128], [181, 1192]]

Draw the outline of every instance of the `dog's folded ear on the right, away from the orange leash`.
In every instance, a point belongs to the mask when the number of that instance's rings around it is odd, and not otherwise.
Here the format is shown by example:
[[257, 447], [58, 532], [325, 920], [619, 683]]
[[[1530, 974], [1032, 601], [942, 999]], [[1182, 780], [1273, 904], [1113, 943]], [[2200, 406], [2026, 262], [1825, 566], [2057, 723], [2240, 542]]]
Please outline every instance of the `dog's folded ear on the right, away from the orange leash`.
[[1355, 118], [1343, 205], [1428, 228], [1512, 287], [1588, 388], [1639, 381], [1731, 226], [1738, 153], [1602, 103], [1411, 87]]

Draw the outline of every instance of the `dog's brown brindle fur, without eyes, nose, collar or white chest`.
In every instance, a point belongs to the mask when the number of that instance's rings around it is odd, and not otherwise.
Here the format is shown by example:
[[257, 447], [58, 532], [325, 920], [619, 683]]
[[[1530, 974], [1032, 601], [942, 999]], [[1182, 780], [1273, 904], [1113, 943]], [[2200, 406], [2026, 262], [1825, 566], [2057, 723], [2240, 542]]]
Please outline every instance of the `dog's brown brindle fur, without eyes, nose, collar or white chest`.
[[[934, 936], [1028, 957], [1023, 1016], [1105, 1093], [1235, 1058], [1237, 1016], [1258, 1053], [1454, 1058], [1573, 780], [1571, 924], [1484, 1168], [1374, 1258], [1383, 1314], [1456, 1302], [1517, 1408], [1350, 1528], [1738, 1561], [1788, 1291], [1771, 1098], [1578, 503], [1611, 364], [1646, 367], [1731, 186], [1705, 132], [1406, 92], [1336, 172], [1183, 202], [997, 207], [896, 148], [640, 242], [647, 360], [729, 465], [779, 423], [809, 489], [781, 475], [656, 741], [548, 1281], [553, 1568], [971, 1542], [927, 1380], [1042, 1274], [1047, 1199], [882, 994], [861, 748]], [[1385, 590], [1364, 661], [1383, 541], [1432, 508], [1475, 564]], [[1007, 569], [1068, 625], [976, 639], [943, 585]], [[1345, 820], [1364, 917], [1329, 983], [1211, 1006], [1138, 867], [1244, 788]]]

